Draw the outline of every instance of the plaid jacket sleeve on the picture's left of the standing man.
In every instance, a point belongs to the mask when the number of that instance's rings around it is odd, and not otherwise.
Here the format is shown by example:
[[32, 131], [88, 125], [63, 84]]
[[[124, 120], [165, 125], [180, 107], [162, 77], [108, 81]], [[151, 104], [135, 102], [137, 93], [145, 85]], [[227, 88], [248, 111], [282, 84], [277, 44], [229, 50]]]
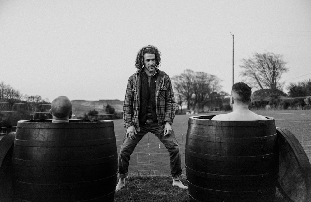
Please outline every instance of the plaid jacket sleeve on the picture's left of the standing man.
[[134, 93], [133, 91], [133, 76], [128, 79], [128, 85], [126, 87], [125, 98], [123, 103], [123, 120], [124, 120], [124, 127], [128, 128], [133, 124], [133, 103], [134, 103]]

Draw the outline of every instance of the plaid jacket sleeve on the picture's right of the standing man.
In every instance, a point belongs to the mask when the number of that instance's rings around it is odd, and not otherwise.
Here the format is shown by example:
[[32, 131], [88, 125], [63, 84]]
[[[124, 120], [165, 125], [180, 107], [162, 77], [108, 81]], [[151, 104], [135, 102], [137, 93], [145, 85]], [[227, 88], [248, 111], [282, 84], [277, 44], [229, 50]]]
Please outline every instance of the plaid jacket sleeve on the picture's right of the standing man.
[[173, 92], [173, 87], [169, 75], [165, 75], [165, 122], [169, 122], [171, 125], [173, 124], [173, 119], [175, 118], [175, 110], [176, 110], [176, 102]]

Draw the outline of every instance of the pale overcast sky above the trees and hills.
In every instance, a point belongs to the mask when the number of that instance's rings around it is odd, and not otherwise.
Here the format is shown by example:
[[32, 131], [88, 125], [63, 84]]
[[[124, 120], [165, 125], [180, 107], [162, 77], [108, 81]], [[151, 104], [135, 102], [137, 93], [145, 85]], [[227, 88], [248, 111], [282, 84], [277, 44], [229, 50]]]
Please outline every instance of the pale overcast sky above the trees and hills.
[[[243, 58], [282, 54], [281, 81], [311, 78], [311, 1], [0, 1], [0, 82], [52, 101], [124, 100], [136, 54], [158, 47], [170, 77], [203, 71], [232, 85]], [[287, 90], [285, 89], [287, 93]]]

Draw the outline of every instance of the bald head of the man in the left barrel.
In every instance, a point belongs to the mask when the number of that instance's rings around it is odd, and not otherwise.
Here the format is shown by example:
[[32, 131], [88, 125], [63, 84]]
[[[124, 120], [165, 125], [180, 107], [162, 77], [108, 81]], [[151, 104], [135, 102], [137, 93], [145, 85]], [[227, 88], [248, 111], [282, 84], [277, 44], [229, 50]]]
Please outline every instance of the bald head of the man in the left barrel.
[[72, 115], [72, 104], [68, 97], [59, 96], [51, 103], [52, 123], [69, 122]]

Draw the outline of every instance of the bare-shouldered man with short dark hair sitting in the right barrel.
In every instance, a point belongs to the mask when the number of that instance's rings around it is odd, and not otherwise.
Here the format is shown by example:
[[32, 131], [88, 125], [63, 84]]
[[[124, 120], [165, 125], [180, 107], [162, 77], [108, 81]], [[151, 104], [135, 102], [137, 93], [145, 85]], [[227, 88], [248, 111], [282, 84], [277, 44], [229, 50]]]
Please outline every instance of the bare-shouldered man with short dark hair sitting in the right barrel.
[[246, 83], [238, 82], [233, 84], [230, 96], [230, 105], [232, 112], [228, 114], [219, 114], [211, 120], [217, 121], [254, 121], [267, 120], [264, 116], [255, 114], [249, 110], [248, 105], [251, 102], [252, 88]]

